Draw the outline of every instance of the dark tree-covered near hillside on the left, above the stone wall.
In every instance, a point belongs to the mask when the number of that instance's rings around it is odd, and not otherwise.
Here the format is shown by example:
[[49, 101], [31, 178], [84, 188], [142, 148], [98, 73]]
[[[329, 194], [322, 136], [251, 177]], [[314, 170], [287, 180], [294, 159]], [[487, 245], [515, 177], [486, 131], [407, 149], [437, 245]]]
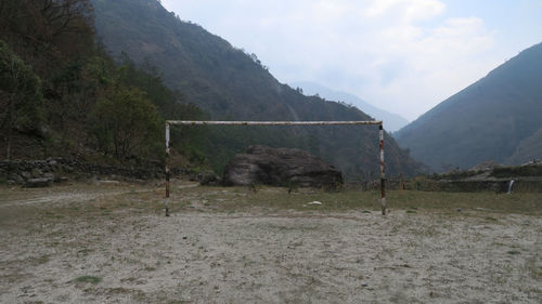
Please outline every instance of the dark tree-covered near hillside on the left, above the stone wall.
[[94, 41], [88, 0], [0, 2], [2, 159], [160, 161], [164, 118], [202, 117], [157, 74], [115, 63]]

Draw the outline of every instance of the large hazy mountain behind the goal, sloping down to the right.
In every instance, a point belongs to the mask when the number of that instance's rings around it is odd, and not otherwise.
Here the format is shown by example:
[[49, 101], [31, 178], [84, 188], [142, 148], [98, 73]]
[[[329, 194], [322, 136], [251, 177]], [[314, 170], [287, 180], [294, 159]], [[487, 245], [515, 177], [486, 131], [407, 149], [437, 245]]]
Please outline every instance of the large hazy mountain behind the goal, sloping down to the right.
[[[255, 54], [232, 47], [196, 24], [182, 22], [157, 0], [92, 3], [98, 35], [113, 56], [125, 52], [141, 66], [155, 66], [169, 88], [211, 119], [371, 119], [354, 107], [307, 97], [280, 83]], [[208, 129], [206, 156], [215, 169], [248, 145], [263, 144], [307, 149], [338, 167], [347, 177], [374, 177], [379, 171], [374, 127]], [[421, 172], [421, 163], [387, 133], [385, 142], [388, 173]]]

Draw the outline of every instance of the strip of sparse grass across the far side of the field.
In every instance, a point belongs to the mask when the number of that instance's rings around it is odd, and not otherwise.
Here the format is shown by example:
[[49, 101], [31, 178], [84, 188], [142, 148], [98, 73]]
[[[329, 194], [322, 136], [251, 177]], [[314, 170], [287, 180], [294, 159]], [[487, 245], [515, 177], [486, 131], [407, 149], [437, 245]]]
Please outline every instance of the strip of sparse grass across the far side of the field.
[[[114, 193], [96, 191], [100, 187], [109, 187]], [[49, 191], [88, 193], [93, 199], [74, 201], [65, 204], [22, 204], [10, 208], [10, 216], [0, 219], [0, 227], [30, 223], [28, 219], [36, 217], [43, 223], [73, 222], [81, 219], [116, 219], [128, 214], [164, 213], [164, 194], [155, 186], [141, 186], [136, 193], [130, 193], [132, 185], [95, 186], [70, 185], [53, 187]], [[254, 208], [268, 213], [302, 212], [305, 215], [325, 214], [356, 210], [363, 213], [380, 210], [380, 193], [377, 190], [362, 191], [344, 189], [325, 191], [314, 188], [298, 188], [288, 194], [287, 187], [260, 186], [256, 193], [247, 187], [190, 187], [175, 190], [171, 194], [170, 210], [172, 213], [192, 211], [190, 201], [204, 201], [198, 212], [238, 214]], [[41, 197], [43, 189], [9, 189], [0, 187], [0, 201], [34, 199]], [[321, 201], [322, 206], [307, 206], [311, 201]], [[478, 216], [486, 221], [496, 222], [499, 214], [542, 215], [542, 194], [496, 195], [494, 193], [438, 193], [417, 190], [390, 190], [387, 193], [388, 208], [406, 213], [438, 212], [447, 216]], [[304, 207], [305, 206], [305, 207]], [[456, 212], [457, 209], [464, 212]], [[23, 212], [24, 211], [24, 212]], [[473, 211], [473, 212], [472, 212]], [[5, 211], [4, 211], [5, 212]], [[11, 216], [13, 215], [13, 216]], [[493, 216], [493, 217], [492, 217]], [[20, 221], [21, 220], [21, 221]], [[24, 220], [24, 221], [23, 221]], [[26, 225], [26, 224], [25, 224]], [[24, 225], [23, 225], [24, 226]], [[26, 225], [27, 226], [27, 225]]]

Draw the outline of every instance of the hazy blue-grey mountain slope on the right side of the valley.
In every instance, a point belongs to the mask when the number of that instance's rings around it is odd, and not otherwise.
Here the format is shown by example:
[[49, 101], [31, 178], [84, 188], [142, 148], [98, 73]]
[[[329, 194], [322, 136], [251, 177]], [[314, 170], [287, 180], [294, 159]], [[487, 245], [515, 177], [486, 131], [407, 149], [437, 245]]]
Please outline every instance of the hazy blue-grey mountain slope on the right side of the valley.
[[[520, 52], [399, 132], [436, 171], [542, 158], [542, 43]], [[526, 151], [528, 149], [528, 153]]]

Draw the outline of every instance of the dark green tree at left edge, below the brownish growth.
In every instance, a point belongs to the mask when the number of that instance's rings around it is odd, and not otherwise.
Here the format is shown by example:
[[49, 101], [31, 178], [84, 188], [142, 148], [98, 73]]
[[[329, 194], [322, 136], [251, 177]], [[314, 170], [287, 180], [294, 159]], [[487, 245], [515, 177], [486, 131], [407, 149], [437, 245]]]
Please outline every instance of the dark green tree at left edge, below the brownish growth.
[[41, 102], [39, 77], [0, 40], [0, 125], [7, 133], [7, 158], [11, 157], [13, 129], [39, 129]]

